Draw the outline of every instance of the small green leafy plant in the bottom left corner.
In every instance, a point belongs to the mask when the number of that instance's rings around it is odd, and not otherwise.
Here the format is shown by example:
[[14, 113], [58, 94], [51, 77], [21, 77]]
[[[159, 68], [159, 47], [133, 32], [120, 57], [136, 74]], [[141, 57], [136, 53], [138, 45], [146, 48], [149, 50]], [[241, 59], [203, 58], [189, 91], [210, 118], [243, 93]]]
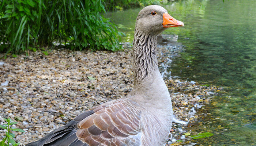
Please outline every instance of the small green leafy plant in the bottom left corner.
[[[19, 128], [11, 128], [11, 125], [17, 124], [17, 122], [12, 121], [11, 119], [4, 119], [7, 124], [0, 125], [0, 128], [3, 128], [7, 130], [5, 132], [5, 137], [4, 139], [0, 142], [0, 146], [18, 146], [20, 143], [16, 143], [13, 138], [15, 138], [15, 135], [11, 131], [18, 131], [18, 132], [25, 132], [22, 129]], [[5, 143], [7, 141], [7, 143]]]

